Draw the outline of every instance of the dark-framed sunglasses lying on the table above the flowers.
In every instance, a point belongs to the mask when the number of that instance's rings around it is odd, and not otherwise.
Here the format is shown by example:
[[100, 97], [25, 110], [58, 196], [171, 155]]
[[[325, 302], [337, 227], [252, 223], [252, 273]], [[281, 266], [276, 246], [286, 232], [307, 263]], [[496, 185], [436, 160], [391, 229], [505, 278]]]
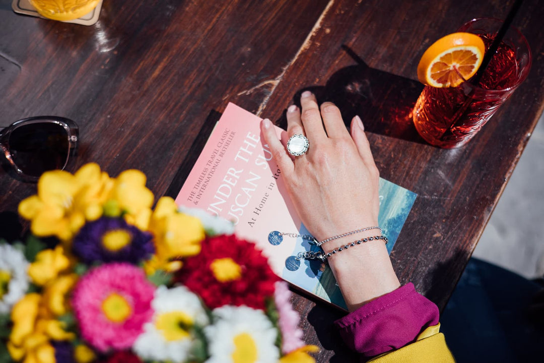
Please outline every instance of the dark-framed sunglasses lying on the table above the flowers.
[[59, 116], [35, 116], [0, 131], [0, 150], [17, 176], [37, 181], [48, 170], [64, 169], [75, 155], [79, 132], [76, 122]]

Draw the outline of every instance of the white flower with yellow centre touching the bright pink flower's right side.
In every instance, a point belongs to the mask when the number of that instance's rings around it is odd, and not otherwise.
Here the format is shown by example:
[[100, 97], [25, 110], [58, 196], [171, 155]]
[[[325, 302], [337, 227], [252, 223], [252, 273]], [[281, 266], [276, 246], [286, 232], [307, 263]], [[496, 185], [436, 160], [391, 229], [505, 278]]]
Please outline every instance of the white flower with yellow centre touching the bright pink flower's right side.
[[186, 361], [195, 343], [189, 328], [209, 323], [200, 299], [185, 286], [159, 286], [151, 306], [152, 321], [134, 342], [134, 352], [145, 360]]

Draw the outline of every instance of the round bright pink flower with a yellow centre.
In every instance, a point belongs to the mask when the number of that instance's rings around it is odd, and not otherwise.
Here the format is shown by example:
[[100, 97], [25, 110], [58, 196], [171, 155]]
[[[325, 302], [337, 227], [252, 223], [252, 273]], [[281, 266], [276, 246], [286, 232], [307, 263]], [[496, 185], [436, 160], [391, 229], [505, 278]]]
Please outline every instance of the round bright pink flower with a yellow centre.
[[154, 290], [143, 270], [132, 264], [109, 263], [90, 270], [72, 299], [83, 338], [101, 352], [131, 347], [151, 320]]

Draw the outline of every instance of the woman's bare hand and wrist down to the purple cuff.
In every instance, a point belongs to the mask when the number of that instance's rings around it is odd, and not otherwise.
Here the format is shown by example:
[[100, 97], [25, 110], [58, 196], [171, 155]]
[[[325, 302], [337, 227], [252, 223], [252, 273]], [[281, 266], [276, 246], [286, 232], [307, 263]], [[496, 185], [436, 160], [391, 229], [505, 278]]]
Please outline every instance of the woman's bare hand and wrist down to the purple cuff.
[[[287, 110], [287, 134], [308, 138], [304, 155], [287, 153], [270, 120], [263, 120], [261, 130], [302, 223], [318, 241], [378, 226], [379, 173], [361, 119], [351, 120], [350, 136], [334, 104], [326, 102], [319, 109], [310, 91], [302, 93], [300, 104], [302, 112], [294, 105]], [[328, 252], [376, 234], [378, 230], [360, 232], [322, 248]], [[400, 286], [381, 240], [341, 251], [327, 261], [350, 311]]]

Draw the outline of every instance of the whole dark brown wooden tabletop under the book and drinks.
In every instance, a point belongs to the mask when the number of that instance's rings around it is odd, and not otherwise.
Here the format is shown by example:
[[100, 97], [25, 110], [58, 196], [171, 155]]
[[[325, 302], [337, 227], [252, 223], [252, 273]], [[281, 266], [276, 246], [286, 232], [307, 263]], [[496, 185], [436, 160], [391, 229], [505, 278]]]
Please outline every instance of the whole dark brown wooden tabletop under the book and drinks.
[[[381, 176], [418, 194], [391, 259], [402, 283], [443, 309], [544, 107], [544, 7], [526, 0], [514, 21], [533, 51], [529, 77], [461, 149], [417, 135], [416, 66], [434, 40], [474, 17], [504, 18], [512, 3], [104, 0], [86, 27], [16, 15], [0, 0], [0, 124], [71, 118], [81, 133], [71, 171], [137, 168], [158, 198], [180, 187], [191, 145], [227, 102], [282, 125], [311, 89], [346, 118], [361, 115]], [[0, 170], [0, 235], [13, 238], [17, 203], [34, 193]], [[353, 358], [331, 329], [341, 312], [293, 302], [318, 361]]]

